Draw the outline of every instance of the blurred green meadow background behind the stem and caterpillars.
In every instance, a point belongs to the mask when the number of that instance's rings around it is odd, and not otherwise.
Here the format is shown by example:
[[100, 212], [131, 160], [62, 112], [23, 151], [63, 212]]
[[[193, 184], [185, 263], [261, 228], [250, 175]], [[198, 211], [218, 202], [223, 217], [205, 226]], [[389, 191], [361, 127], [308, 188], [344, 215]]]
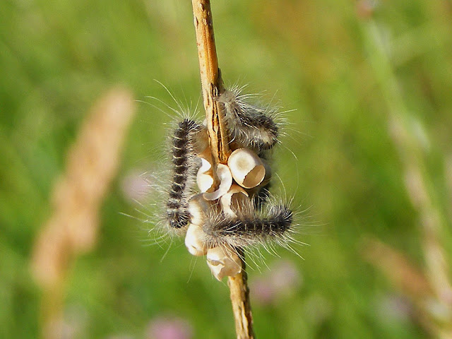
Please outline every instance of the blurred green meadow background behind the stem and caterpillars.
[[[257, 338], [433, 338], [363, 244], [379, 239], [426, 271], [425, 210], [406, 184], [414, 167], [451, 263], [451, 1], [213, 0], [212, 9], [225, 82], [293, 109], [275, 168], [287, 196], [310, 207], [297, 235], [310, 246], [295, 246], [303, 258], [280, 249], [265, 254], [271, 269], [250, 263]], [[191, 2], [2, 1], [0, 71], [0, 337], [36, 338], [32, 245], [93, 102], [122, 84], [136, 100], [174, 106], [153, 79], [183, 105], [201, 102]], [[98, 242], [67, 277], [65, 338], [234, 338], [226, 280], [182, 239], [164, 257], [165, 245], [147, 246], [152, 225], [119, 214], [143, 218], [128, 178], [152, 169], [170, 120], [137, 103]]]

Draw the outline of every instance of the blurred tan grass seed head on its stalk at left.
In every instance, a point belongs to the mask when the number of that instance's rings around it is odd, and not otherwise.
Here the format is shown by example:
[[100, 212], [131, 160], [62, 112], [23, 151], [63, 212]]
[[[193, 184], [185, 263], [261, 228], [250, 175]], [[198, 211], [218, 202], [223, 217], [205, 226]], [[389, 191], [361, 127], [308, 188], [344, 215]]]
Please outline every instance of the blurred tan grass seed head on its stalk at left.
[[135, 109], [129, 90], [110, 90], [91, 109], [52, 191], [53, 214], [32, 254], [32, 273], [42, 288], [42, 338], [63, 338], [64, 285], [76, 256], [93, 249], [98, 213], [117, 172]]

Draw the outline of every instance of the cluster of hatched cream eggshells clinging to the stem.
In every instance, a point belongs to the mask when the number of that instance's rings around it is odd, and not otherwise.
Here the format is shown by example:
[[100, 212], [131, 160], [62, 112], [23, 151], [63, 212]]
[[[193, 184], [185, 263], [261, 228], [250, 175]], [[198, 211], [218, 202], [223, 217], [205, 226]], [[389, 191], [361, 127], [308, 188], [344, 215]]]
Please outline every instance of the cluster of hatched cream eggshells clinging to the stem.
[[208, 236], [203, 231], [206, 218], [209, 218], [210, 211], [215, 210], [215, 204], [218, 202], [227, 218], [237, 218], [241, 208], [251, 210], [252, 202], [245, 189], [252, 189], [264, 179], [270, 179], [271, 172], [254, 151], [239, 148], [231, 153], [227, 165], [217, 165], [218, 189], [211, 191], [215, 180], [210, 150], [207, 148], [198, 157], [201, 158], [201, 167], [198, 169], [196, 182], [201, 194], [196, 194], [189, 201], [191, 224], [186, 231], [185, 246], [194, 256], [207, 254], [207, 263], [212, 274], [222, 280], [225, 276], [240, 273], [242, 263], [237, 253], [228, 245], [209, 248]]

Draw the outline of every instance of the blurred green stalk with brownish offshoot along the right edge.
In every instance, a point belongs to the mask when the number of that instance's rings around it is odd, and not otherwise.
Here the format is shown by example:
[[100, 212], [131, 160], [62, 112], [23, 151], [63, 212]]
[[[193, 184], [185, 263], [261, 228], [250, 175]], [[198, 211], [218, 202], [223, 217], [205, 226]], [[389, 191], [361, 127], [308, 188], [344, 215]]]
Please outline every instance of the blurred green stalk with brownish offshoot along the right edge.
[[[401, 258], [404, 255], [386, 245], [371, 242], [366, 252], [369, 261], [382, 268], [393, 283], [399, 282], [400, 285], [403, 280], [405, 283], [400, 287], [405, 289], [411, 286], [403, 292], [407, 292], [419, 313], [424, 316], [420, 323], [437, 338], [452, 338], [452, 286], [444, 247], [440, 241], [447, 216], [441, 214], [441, 206], [438, 206], [434, 197], [432, 178], [425, 163], [428, 149], [412, 129], [413, 117], [405, 105], [391, 66], [391, 43], [383, 40], [381, 28], [374, 20], [367, 20], [362, 27], [369, 64], [386, 100], [388, 129], [403, 165], [405, 187], [412, 205], [419, 213], [425, 273], [415, 273], [415, 268], [408, 269], [408, 261]], [[420, 121], [417, 122], [420, 124]], [[382, 256], [393, 260], [382, 260]], [[400, 272], [412, 274], [400, 277]], [[419, 285], [419, 288], [414, 285]], [[420, 288], [420, 285], [424, 287]]]

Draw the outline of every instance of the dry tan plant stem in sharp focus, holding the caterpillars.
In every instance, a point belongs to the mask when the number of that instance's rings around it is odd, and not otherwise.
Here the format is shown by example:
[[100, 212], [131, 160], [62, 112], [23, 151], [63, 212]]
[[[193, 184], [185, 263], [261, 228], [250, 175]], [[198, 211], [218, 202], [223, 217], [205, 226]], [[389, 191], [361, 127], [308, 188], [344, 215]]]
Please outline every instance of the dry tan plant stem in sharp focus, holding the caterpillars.
[[[230, 155], [229, 133], [224, 122], [218, 101], [214, 97], [223, 91], [220, 69], [218, 68], [217, 51], [213, 37], [213, 19], [210, 1], [192, 0], [196, 42], [198, 45], [199, 69], [203, 103], [206, 109], [206, 120], [213, 155], [214, 169], [219, 163], [226, 164]], [[214, 170], [215, 172], [215, 170]], [[215, 184], [218, 179], [215, 177]], [[243, 255], [242, 255], [242, 258]], [[232, 310], [234, 311], [237, 338], [254, 338], [252, 328], [251, 307], [249, 304], [249, 289], [246, 282], [245, 263], [242, 260], [242, 273], [228, 278]]]

